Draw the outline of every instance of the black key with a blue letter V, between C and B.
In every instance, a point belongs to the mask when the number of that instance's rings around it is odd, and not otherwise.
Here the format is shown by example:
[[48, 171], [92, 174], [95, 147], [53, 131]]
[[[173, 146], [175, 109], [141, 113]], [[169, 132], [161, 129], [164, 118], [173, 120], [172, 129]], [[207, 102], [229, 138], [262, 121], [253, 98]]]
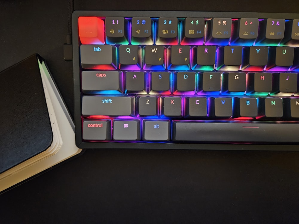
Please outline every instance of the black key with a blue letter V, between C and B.
[[230, 118], [233, 114], [231, 98], [209, 97], [209, 117]]

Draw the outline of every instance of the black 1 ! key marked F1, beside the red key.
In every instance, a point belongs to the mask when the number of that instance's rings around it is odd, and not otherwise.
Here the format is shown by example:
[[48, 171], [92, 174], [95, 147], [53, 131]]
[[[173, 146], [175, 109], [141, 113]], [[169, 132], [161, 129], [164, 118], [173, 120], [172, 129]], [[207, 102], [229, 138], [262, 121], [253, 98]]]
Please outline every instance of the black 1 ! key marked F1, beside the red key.
[[128, 21], [123, 17], [106, 17], [106, 43], [129, 44], [127, 34]]

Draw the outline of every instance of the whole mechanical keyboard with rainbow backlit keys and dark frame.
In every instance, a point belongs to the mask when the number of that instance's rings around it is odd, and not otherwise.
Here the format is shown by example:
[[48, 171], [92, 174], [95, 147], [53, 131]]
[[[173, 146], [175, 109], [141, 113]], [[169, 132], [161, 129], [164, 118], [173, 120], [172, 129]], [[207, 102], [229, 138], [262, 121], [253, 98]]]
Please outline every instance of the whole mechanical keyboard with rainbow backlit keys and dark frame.
[[72, 29], [78, 147], [299, 150], [299, 14], [74, 11]]

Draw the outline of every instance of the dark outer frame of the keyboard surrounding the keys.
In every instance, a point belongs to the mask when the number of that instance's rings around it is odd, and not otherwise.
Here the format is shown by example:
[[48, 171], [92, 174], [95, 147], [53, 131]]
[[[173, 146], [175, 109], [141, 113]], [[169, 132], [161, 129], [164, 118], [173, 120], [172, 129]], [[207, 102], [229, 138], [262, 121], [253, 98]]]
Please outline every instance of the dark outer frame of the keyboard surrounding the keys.
[[123, 149], [201, 149], [201, 150], [271, 150], [299, 151], [298, 145], [260, 144], [214, 144], [214, 143], [147, 143], [147, 142], [83, 142], [81, 120], [80, 54], [78, 17], [203, 17], [203, 18], [258, 18], [299, 19], [299, 13], [254, 13], [254, 12], [200, 12], [200, 11], [120, 11], [120, 10], [77, 10], [72, 14], [74, 112], [76, 145], [79, 148], [123, 148]]

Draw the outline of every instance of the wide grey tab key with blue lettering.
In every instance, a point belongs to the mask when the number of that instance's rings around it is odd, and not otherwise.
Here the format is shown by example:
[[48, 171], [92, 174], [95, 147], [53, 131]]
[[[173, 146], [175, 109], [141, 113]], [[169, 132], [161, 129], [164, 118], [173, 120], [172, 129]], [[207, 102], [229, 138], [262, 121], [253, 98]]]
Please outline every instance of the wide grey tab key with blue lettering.
[[116, 69], [116, 47], [111, 45], [81, 45], [80, 59], [82, 68]]

